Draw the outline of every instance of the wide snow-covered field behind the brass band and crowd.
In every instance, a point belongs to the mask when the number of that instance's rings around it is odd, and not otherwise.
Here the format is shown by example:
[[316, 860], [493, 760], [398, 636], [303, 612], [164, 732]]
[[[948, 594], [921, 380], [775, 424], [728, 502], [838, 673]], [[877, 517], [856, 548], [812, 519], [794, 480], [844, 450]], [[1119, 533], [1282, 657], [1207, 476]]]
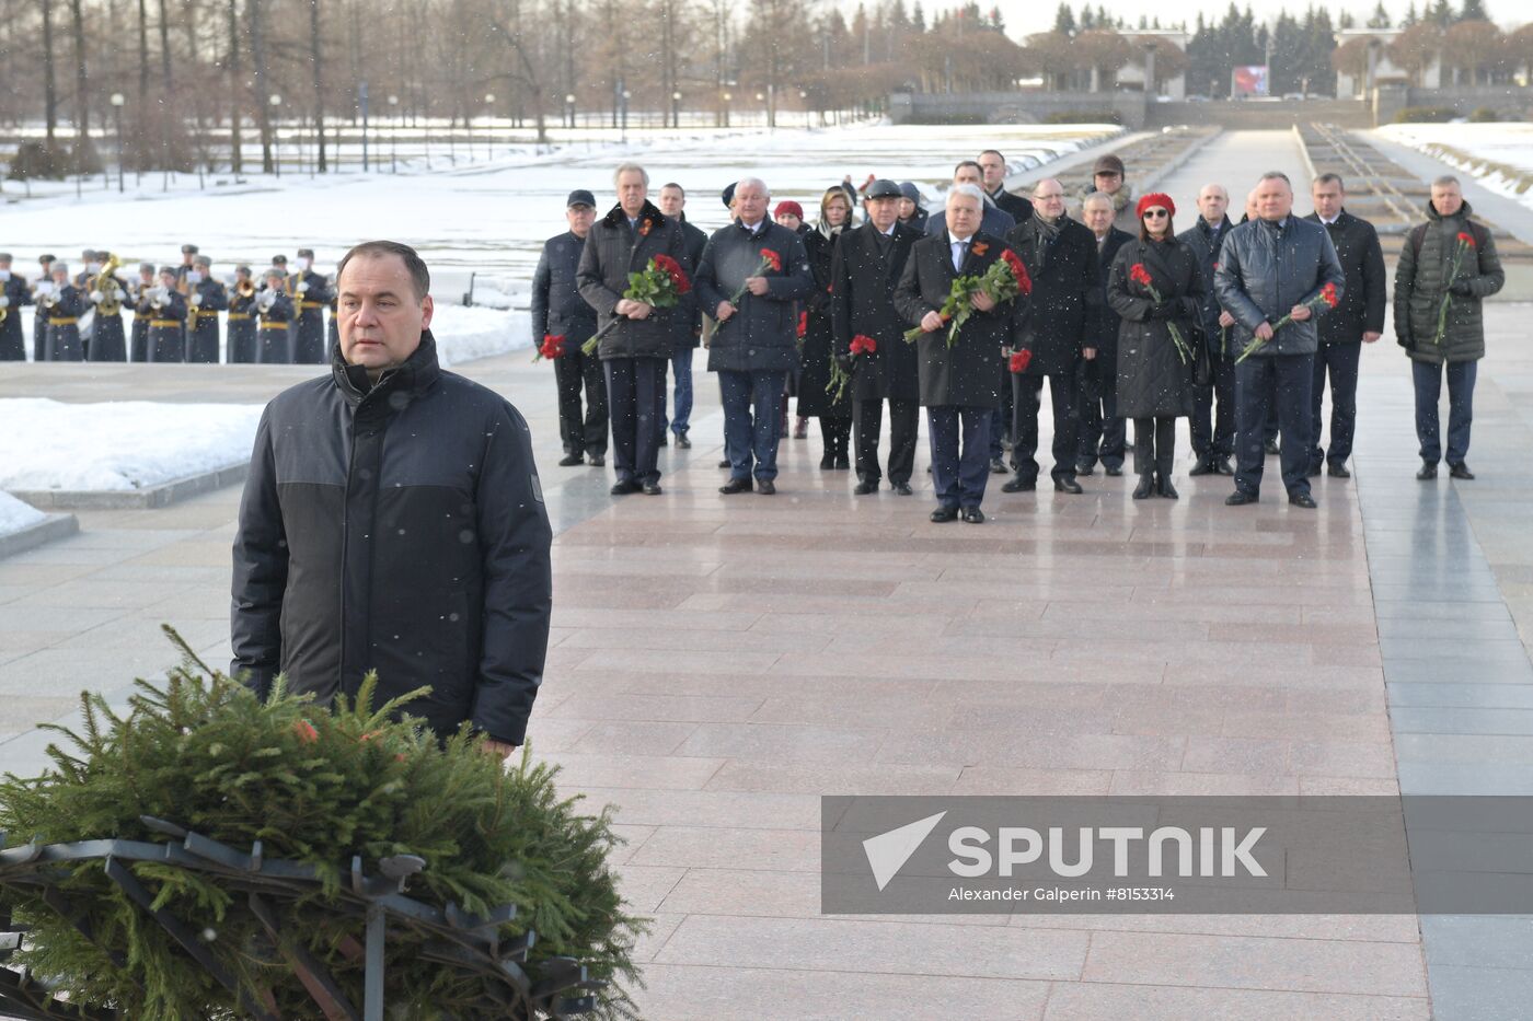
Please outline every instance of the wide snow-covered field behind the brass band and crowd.
[[[299, 245], [316, 248], [328, 271], [340, 254], [366, 238], [405, 241], [425, 256], [437, 294], [466, 290], [471, 271], [526, 281], [546, 238], [564, 230], [564, 196], [590, 189], [606, 210], [613, 202], [612, 170], [622, 159], [642, 163], [652, 192], [667, 181], [688, 189], [688, 219], [704, 228], [724, 224], [724, 185], [762, 176], [776, 199], [819, 207], [825, 187], [869, 173], [909, 179], [927, 195], [952, 176], [954, 164], [996, 147], [1016, 172], [1049, 163], [1122, 129], [1096, 126], [889, 126], [831, 129], [711, 129], [630, 132], [627, 143], [587, 140], [555, 150], [497, 144], [491, 158], [431, 172], [388, 170], [310, 178], [247, 175], [242, 184], [208, 182], [207, 190], [161, 193], [161, 178], [146, 175], [129, 193], [103, 190], [77, 199], [72, 190], [6, 207], [5, 247], [29, 279], [38, 253], [77, 261], [81, 248], [109, 248], [126, 265], [178, 262], [178, 245], [196, 242], [222, 274], [235, 262], [264, 267]], [[189, 179], [182, 176], [182, 184]], [[6, 187], [14, 201], [15, 185]], [[524, 284], [521, 285], [524, 287]], [[501, 284], [497, 290], [515, 290]]]

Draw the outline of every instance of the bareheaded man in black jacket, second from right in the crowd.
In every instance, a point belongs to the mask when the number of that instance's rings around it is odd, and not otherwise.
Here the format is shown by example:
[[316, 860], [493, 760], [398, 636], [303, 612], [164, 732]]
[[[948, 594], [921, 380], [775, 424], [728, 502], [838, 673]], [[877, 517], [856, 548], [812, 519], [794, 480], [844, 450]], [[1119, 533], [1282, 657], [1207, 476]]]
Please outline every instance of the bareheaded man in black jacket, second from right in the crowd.
[[[1308, 219], [1326, 225], [1346, 274], [1341, 305], [1320, 319], [1315, 383], [1309, 394], [1309, 406], [1314, 409], [1309, 474], [1318, 475], [1325, 465], [1334, 478], [1349, 478], [1352, 472], [1348, 471], [1346, 460], [1352, 455], [1352, 435], [1357, 431], [1357, 366], [1363, 343], [1374, 343], [1384, 336], [1384, 250], [1374, 225], [1346, 212], [1346, 185], [1340, 175], [1321, 173], [1309, 185], [1309, 195], [1315, 212]], [[1320, 448], [1326, 373], [1331, 374], [1329, 451]]]

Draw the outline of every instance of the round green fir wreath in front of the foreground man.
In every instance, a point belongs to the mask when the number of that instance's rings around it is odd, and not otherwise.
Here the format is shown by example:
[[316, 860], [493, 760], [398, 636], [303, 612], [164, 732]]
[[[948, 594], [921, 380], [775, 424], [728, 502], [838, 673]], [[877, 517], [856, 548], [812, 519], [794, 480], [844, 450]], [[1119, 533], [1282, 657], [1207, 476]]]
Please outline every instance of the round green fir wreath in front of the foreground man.
[[[262, 702], [166, 632], [184, 661], [164, 685], [138, 681], [123, 716], [98, 694], [81, 694], [81, 733], [52, 728], [72, 745], [49, 747], [54, 768], [0, 782], [8, 854], [18, 843], [162, 842], [164, 829], [150, 825], [156, 819], [233, 848], [259, 840], [267, 860], [314, 868], [317, 881], [276, 898], [281, 929], [297, 934], [356, 1004], [365, 923], [345, 897], [345, 868], [354, 855], [373, 872], [392, 855], [419, 855], [425, 868], [411, 877], [409, 897], [472, 915], [515, 904], [495, 935], [514, 944], [535, 932], [527, 975], [535, 978], [540, 963], [575, 958], [592, 980], [587, 987], [596, 987], [593, 1013], [632, 1016], [624, 984], [639, 983], [632, 952], [647, 923], [624, 911], [607, 868], [619, 843], [612, 806], [583, 814], [578, 797], [556, 793], [556, 768], [533, 763], [526, 750], [506, 770], [466, 728], [438, 740], [400, 717], [420, 691], [374, 710], [376, 679], [368, 678], [354, 704], [340, 699], [325, 710], [279, 682]], [[25, 937], [9, 963], [29, 969], [34, 989], [61, 993], [57, 1016], [95, 1009], [222, 1019], [247, 1016], [250, 1003], [276, 1016], [320, 1016], [238, 881], [166, 862], [129, 866], [153, 897], [150, 911], [166, 909], [198, 932], [231, 990], [124, 895], [100, 858], [51, 863], [40, 885], [35, 866], [15, 865], [25, 857], [0, 862], [0, 909]], [[497, 990], [487, 986], [500, 975], [432, 960], [431, 941], [426, 929], [389, 929], [391, 1018], [532, 1016], [494, 1007]]]

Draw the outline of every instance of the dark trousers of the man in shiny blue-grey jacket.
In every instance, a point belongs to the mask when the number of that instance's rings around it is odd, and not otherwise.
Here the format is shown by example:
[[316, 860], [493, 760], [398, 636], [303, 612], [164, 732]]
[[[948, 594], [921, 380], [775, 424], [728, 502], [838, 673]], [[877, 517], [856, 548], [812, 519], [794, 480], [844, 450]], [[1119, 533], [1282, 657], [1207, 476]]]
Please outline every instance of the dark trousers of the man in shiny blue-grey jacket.
[[[1289, 494], [1309, 492], [1309, 388], [1314, 385], [1315, 356], [1268, 354], [1249, 357], [1236, 366], [1236, 489], [1262, 492], [1262, 442], [1266, 419], [1277, 409], [1283, 434], [1283, 488]], [[1277, 392], [1277, 400], [1269, 394]]]

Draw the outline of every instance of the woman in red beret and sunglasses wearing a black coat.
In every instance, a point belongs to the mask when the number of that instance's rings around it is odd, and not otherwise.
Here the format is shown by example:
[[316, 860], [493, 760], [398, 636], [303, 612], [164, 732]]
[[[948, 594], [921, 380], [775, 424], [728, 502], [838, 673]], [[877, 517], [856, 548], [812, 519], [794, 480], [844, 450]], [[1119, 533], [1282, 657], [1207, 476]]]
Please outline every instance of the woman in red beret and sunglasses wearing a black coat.
[[[1168, 195], [1139, 199], [1139, 241], [1113, 261], [1107, 302], [1122, 317], [1118, 330], [1118, 414], [1134, 420], [1134, 500], [1160, 494], [1176, 500], [1171, 458], [1176, 420], [1193, 414], [1193, 323], [1202, 310], [1197, 256], [1176, 239]], [[1188, 353], [1177, 350], [1171, 327]]]

